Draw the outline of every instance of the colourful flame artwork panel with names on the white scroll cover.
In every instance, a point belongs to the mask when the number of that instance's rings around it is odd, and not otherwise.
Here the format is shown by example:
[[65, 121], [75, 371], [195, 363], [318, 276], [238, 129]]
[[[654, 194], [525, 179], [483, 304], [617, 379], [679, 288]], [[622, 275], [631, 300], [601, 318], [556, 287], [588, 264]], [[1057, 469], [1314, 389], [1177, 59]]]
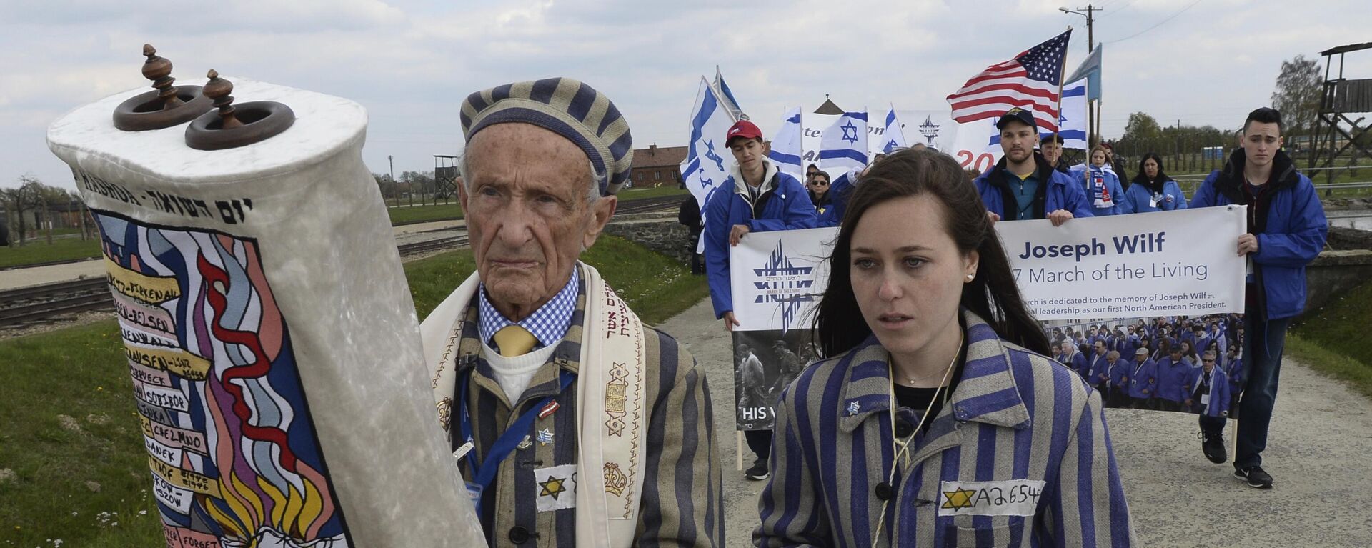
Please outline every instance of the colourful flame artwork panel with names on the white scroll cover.
[[351, 545], [258, 243], [95, 220], [167, 545]]

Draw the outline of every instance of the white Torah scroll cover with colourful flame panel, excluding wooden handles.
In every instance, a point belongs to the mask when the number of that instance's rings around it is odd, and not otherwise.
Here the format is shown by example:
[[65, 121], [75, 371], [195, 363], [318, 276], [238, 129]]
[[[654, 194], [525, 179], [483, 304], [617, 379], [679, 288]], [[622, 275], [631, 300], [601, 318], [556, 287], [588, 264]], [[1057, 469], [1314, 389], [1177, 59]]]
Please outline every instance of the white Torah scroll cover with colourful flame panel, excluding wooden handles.
[[[428, 408], [418, 323], [366, 113], [230, 78], [285, 132], [185, 146], [114, 128], [129, 91], [48, 129], [100, 227], [167, 547], [473, 547]], [[241, 109], [240, 109], [241, 111]]]

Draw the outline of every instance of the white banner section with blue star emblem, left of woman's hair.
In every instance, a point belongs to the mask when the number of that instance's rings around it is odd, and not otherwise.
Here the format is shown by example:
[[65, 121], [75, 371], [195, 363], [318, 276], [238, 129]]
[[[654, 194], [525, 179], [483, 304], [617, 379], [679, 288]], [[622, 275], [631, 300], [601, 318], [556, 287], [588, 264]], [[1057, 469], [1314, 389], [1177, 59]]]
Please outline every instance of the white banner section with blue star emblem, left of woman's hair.
[[809, 327], [829, 284], [829, 258], [838, 228], [749, 232], [729, 251], [735, 331]]

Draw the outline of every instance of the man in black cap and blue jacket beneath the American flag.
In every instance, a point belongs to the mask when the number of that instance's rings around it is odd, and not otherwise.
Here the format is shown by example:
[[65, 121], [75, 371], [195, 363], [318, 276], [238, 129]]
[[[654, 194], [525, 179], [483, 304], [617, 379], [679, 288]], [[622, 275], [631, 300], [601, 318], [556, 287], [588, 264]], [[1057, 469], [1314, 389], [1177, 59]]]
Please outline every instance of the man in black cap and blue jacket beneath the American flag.
[[1081, 185], [1034, 152], [1039, 125], [1033, 113], [1014, 107], [996, 121], [1003, 158], [973, 184], [991, 221], [1047, 218], [1061, 227], [1073, 217], [1091, 217]]

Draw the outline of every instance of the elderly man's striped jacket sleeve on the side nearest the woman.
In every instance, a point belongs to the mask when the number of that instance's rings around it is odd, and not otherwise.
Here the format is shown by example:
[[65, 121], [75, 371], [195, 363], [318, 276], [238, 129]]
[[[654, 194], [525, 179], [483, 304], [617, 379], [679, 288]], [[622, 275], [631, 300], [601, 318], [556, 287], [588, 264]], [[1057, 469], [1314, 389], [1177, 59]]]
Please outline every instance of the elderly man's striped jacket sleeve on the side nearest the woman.
[[723, 547], [723, 481], [709, 386], [686, 349], [654, 334], [661, 367], [634, 545]]

